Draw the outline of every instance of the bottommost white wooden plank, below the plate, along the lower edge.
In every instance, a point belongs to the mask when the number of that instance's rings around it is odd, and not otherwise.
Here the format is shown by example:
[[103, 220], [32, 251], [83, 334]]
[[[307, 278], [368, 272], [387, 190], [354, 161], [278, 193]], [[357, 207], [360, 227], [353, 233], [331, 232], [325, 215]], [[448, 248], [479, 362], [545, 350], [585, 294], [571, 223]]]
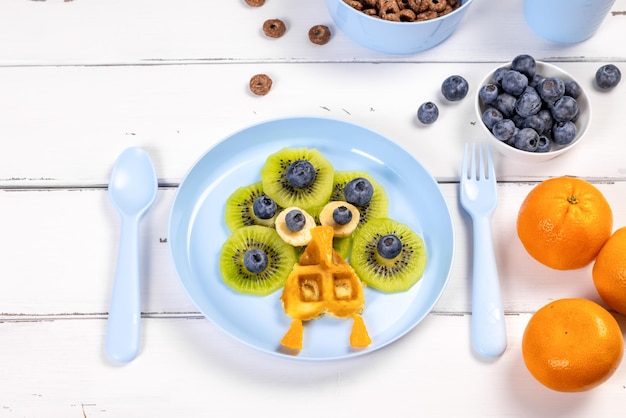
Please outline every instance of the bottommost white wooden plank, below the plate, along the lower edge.
[[582, 394], [531, 377], [529, 318], [506, 317], [509, 345], [495, 361], [472, 354], [469, 316], [430, 315], [382, 350], [323, 363], [259, 353], [206, 320], [150, 319], [139, 356], [121, 367], [104, 356], [103, 320], [3, 322], [0, 417], [619, 416], [624, 367]]

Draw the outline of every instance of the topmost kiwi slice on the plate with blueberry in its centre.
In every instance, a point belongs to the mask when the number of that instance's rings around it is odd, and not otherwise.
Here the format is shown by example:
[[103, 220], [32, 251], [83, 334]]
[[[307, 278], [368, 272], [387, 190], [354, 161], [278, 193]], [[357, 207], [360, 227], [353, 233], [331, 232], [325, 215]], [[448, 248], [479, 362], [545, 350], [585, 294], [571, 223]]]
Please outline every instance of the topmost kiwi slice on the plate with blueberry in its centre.
[[323, 206], [333, 187], [332, 164], [316, 149], [283, 148], [261, 168], [265, 193], [284, 208]]

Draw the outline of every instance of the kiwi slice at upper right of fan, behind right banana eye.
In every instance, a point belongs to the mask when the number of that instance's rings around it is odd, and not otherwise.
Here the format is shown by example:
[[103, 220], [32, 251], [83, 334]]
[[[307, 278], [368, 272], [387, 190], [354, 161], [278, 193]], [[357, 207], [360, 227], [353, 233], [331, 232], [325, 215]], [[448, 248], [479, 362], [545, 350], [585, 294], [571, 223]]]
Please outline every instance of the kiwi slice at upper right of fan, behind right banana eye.
[[389, 200], [387, 198], [387, 192], [385, 191], [384, 187], [380, 183], [378, 183], [367, 172], [358, 171], [358, 170], [335, 171], [335, 177], [333, 180], [333, 191], [331, 193], [330, 200], [347, 201], [345, 193], [344, 193], [346, 185], [357, 179], [367, 180], [373, 188], [373, 193], [371, 195], [370, 200], [367, 203], [356, 204], [359, 202], [356, 202], [356, 203], [350, 202], [354, 204], [354, 206], [356, 206], [356, 208], [359, 210], [359, 213], [361, 214], [360, 219], [359, 219], [359, 225], [358, 225], [358, 227], [360, 228], [362, 225], [364, 225], [371, 219], [386, 218], [388, 216], [388, 211], [389, 211]]

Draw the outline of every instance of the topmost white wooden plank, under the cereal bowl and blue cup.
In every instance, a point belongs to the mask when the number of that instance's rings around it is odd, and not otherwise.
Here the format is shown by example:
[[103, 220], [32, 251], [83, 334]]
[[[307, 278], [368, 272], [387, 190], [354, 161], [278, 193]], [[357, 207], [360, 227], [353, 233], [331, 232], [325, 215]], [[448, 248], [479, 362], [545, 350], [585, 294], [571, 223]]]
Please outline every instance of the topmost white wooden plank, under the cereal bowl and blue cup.
[[[250, 8], [242, 0], [90, 0], [0, 3], [0, 65], [67, 65], [163, 62], [505, 62], [510, 54], [540, 59], [603, 61], [626, 56], [622, 39], [626, 1], [617, 0], [596, 36], [562, 46], [534, 34], [522, 0], [474, 1], [457, 31], [443, 44], [408, 56], [369, 51], [332, 22], [323, 1], [268, 1]], [[268, 39], [261, 27], [281, 18], [288, 27]], [[326, 24], [327, 45], [312, 44], [308, 30]]]

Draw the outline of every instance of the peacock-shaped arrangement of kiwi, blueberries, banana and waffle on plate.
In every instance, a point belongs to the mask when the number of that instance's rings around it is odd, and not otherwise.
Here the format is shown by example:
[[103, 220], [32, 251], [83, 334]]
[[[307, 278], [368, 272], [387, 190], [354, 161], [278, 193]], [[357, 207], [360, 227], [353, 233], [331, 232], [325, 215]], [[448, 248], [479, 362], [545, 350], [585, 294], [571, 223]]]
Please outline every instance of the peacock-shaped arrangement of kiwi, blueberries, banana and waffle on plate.
[[426, 268], [423, 239], [388, 217], [387, 194], [372, 176], [336, 171], [316, 149], [283, 148], [267, 157], [260, 177], [226, 201], [222, 279], [251, 295], [283, 288], [293, 319], [287, 348], [301, 349], [302, 321], [325, 315], [353, 319], [350, 344], [367, 346], [362, 287], [410, 289]]

